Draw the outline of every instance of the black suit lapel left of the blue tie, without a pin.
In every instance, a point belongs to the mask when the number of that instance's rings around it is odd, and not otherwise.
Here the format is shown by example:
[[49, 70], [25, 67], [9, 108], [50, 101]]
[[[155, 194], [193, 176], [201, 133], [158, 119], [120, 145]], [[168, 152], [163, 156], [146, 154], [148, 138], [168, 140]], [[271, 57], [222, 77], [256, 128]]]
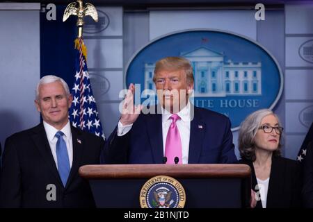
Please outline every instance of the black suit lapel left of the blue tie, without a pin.
[[33, 129], [32, 139], [45, 160], [45, 163], [48, 165], [52, 175], [54, 175], [56, 180], [58, 180], [58, 182], [62, 185], [61, 178], [58, 175], [58, 169], [56, 168], [56, 162], [54, 161], [54, 157], [51, 153], [46, 131], [42, 123]]

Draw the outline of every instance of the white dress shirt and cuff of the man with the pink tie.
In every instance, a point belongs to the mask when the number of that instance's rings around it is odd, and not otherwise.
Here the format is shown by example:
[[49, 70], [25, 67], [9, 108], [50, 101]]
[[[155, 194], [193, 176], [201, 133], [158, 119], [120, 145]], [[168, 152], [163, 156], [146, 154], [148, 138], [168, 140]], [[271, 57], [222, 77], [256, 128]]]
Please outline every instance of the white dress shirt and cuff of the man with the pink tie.
[[[162, 137], [163, 137], [163, 155], [165, 155], [166, 148], [166, 137], [168, 135], [168, 129], [172, 120], [170, 116], [172, 114], [167, 110], [162, 108]], [[182, 163], [188, 164], [188, 155], [189, 155], [189, 140], [190, 140], [190, 123], [191, 123], [191, 110], [190, 102], [180, 110], [177, 115], [180, 119], [177, 120], [177, 128], [179, 130], [180, 139], [182, 140]], [[131, 130], [133, 124], [123, 126], [120, 121], [118, 121], [118, 136], [121, 137]], [[153, 126], [151, 126], [153, 127]]]

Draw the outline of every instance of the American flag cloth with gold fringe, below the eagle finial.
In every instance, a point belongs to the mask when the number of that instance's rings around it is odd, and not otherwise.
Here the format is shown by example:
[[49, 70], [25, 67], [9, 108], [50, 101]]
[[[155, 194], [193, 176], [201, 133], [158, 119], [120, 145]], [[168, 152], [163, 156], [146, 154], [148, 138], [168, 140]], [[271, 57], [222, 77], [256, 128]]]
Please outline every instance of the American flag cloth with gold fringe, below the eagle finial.
[[105, 139], [95, 97], [93, 96], [93, 89], [90, 85], [86, 63], [86, 46], [82, 37], [75, 40], [75, 49], [77, 54], [75, 61], [76, 74], [74, 87], [72, 88], [73, 101], [70, 108], [70, 121], [74, 127]]

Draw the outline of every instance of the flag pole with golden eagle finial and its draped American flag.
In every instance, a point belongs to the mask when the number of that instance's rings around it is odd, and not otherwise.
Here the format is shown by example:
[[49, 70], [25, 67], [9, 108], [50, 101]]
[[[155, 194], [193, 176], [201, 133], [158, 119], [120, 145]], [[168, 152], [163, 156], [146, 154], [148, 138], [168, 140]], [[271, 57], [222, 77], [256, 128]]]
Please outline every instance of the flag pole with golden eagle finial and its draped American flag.
[[[77, 4], [78, 3], [78, 4]], [[77, 16], [78, 36], [74, 40], [75, 49], [77, 49], [77, 57], [75, 62], [76, 80], [72, 89], [73, 102], [70, 107], [70, 121], [72, 126], [86, 130], [99, 137], [104, 137], [102, 124], [99, 120], [97, 105], [93, 90], [90, 85], [90, 77], [87, 67], [87, 49], [83, 43], [83, 18], [90, 16], [98, 22], [98, 14], [95, 6], [91, 3], [86, 3], [83, 6], [83, 1], [70, 3], [64, 11], [63, 22], [71, 15]]]

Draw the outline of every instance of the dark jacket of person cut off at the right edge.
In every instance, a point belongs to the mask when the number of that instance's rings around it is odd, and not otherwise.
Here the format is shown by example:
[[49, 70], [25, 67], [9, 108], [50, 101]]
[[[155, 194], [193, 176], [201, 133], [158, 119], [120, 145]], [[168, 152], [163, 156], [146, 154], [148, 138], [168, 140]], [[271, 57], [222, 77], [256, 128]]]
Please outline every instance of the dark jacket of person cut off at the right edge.
[[313, 142], [306, 148], [307, 155], [303, 162], [303, 206], [313, 208]]

